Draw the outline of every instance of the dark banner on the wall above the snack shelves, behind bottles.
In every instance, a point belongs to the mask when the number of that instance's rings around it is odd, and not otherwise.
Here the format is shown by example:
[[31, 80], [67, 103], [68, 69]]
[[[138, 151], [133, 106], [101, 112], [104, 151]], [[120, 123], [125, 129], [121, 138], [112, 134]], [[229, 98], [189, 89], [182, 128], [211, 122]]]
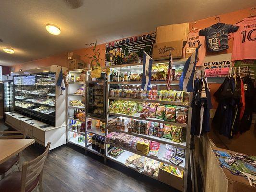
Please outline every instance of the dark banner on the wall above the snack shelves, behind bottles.
[[124, 53], [127, 57], [130, 53], [137, 53], [140, 58], [143, 58], [143, 51], [152, 56], [153, 44], [156, 42], [156, 33], [144, 34], [141, 36], [133, 36], [126, 39], [117, 40], [106, 44], [105, 61], [111, 62], [112, 51]]

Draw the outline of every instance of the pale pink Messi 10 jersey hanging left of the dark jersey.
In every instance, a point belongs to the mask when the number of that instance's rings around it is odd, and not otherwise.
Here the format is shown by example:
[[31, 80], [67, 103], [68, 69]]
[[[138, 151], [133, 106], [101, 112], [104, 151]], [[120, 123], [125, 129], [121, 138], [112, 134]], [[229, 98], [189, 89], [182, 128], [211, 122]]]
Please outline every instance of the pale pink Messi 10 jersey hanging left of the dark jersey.
[[187, 43], [183, 48], [183, 56], [185, 56], [186, 48], [198, 47], [199, 45], [201, 45], [201, 47], [198, 50], [198, 56], [197, 56], [198, 61], [196, 63], [197, 67], [203, 66], [203, 61], [205, 59], [205, 54], [206, 54], [205, 36], [199, 36], [199, 30], [194, 32], [189, 32]]

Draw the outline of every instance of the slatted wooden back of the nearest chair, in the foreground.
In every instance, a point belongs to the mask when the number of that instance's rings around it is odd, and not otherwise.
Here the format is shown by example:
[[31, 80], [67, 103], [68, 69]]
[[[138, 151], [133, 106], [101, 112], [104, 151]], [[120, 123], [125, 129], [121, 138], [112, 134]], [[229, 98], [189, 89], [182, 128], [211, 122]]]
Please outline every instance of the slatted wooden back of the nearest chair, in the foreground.
[[25, 192], [27, 186], [35, 182], [39, 177], [42, 177], [49, 148], [50, 142], [47, 143], [46, 149], [42, 155], [32, 161], [25, 161], [23, 163], [21, 173], [21, 192]]

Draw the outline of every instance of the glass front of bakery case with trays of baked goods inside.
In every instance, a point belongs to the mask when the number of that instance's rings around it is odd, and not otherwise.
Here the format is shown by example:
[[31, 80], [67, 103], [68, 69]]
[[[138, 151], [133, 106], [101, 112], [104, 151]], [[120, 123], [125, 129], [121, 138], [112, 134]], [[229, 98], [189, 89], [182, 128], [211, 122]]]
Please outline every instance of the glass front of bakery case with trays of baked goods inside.
[[55, 72], [14, 76], [14, 110], [55, 126]]

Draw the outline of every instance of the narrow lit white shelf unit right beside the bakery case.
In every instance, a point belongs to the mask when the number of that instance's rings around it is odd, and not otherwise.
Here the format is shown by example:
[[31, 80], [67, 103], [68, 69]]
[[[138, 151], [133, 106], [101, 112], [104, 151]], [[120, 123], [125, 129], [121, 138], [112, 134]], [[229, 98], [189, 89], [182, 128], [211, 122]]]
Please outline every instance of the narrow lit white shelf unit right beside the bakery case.
[[[86, 112], [84, 120], [74, 118], [74, 110], [85, 110], [84, 106], [75, 106], [70, 105], [70, 101], [72, 100], [85, 100], [86, 104], [86, 81], [87, 81], [87, 71], [85, 69], [85, 78], [83, 81], [77, 81], [80, 75], [82, 74], [82, 70], [84, 69], [76, 69], [69, 71], [69, 86], [68, 86], [68, 94], [67, 94], [67, 142], [71, 144], [75, 144], [79, 147], [85, 148], [85, 142], [83, 141], [83, 137], [85, 137], [85, 131], [78, 131], [77, 125], [84, 124], [87, 126], [86, 120]], [[79, 90], [80, 89], [80, 90]], [[82, 91], [84, 90], [84, 91]], [[81, 93], [80, 93], [81, 92]], [[77, 93], [77, 94], [76, 94]], [[75, 129], [72, 129], [72, 123], [75, 125]], [[75, 123], [76, 122], [76, 123]], [[74, 127], [74, 126], [73, 126]]]

